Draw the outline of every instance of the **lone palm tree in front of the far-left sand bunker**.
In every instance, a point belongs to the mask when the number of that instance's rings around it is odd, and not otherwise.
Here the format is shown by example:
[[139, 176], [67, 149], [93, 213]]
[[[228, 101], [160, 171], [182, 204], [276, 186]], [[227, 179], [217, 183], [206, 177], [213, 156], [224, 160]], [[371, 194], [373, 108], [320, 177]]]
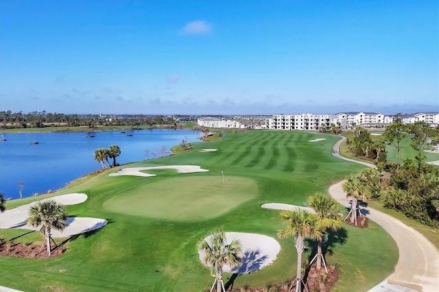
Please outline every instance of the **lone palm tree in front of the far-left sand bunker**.
[[[54, 200], [38, 202], [29, 209], [29, 218], [27, 223], [36, 228], [41, 227], [40, 232], [44, 234], [47, 243], [47, 254], [50, 256], [51, 230], [62, 231], [66, 227], [67, 212], [64, 206], [56, 203]], [[44, 245], [43, 241], [43, 245]], [[55, 243], [55, 242], [54, 242]], [[41, 247], [43, 247], [41, 245]]]

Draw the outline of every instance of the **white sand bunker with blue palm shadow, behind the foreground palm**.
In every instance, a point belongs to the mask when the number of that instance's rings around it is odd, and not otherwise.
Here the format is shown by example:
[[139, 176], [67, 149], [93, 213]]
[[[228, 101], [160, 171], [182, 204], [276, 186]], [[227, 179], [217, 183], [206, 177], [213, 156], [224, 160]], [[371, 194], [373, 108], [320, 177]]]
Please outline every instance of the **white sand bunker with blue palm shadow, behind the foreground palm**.
[[[281, 245], [276, 239], [263, 234], [224, 232], [228, 243], [237, 239], [241, 243], [241, 264], [235, 269], [228, 265], [223, 266], [223, 271], [228, 273], [250, 273], [257, 271], [273, 263], [277, 254], [281, 251]], [[204, 238], [210, 243], [210, 235]], [[198, 251], [198, 256], [203, 263], [204, 252]]]

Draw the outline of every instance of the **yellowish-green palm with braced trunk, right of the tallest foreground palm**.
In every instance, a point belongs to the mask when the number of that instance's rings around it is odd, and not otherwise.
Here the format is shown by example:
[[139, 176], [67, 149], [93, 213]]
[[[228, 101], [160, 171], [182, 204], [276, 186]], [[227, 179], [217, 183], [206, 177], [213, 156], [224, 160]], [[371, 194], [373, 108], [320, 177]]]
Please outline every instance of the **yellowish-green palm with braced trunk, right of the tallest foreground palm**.
[[[331, 228], [331, 230], [336, 231], [342, 228], [342, 213], [340, 212], [340, 205], [335, 201], [335, 199], [322, 194], [316, 194], [308, 197], [308, 204], [317, 214], [317, 224], [320, 230], [319, 236], [317, 236], [317, 254], [313, 258], [317, 260], [317, 269], [322, 269], [322, 262], [324, 264], [324, 269], [328, 273], [326, 263], [324, 263], [324, 258], [322, 255], [322, 241], [324, 232]], [[313, 263], [311, 260], [310, 265]]]

